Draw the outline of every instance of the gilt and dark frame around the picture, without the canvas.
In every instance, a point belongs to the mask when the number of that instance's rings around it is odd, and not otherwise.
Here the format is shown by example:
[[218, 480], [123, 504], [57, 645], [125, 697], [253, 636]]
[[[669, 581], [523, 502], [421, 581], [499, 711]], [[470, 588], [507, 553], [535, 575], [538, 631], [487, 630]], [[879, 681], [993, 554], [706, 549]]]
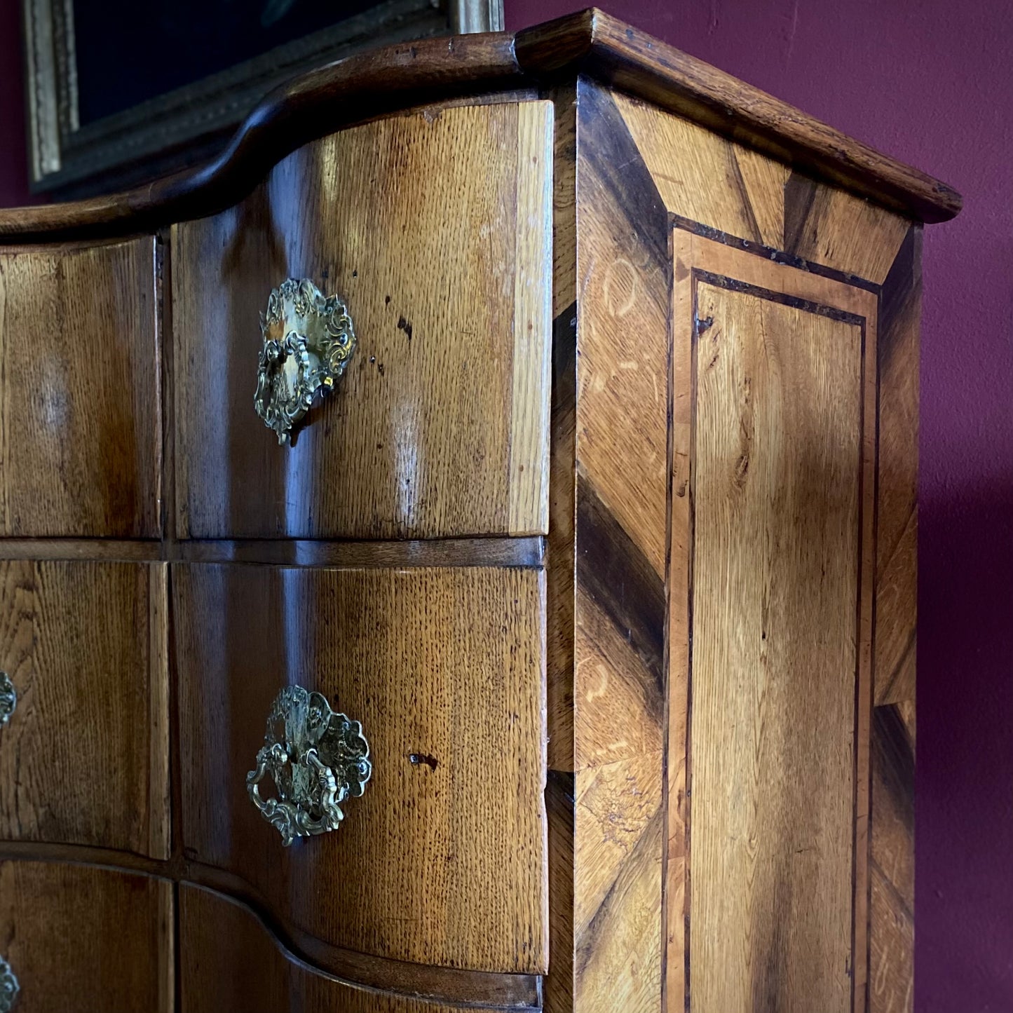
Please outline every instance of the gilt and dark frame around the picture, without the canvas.
[[[270, 2], [277, 10], [279, 0]], [[503, 27], [502, 0], [359, 3], [333, 24], [89, 118], [82, 115], [91, 82], [78, 59], [74, 4], [22, 0], [29, 185], [60, 200], [124, 189], [211, 159], [264, 95], [301, 72], [375, 46]], [[152, 60], [172, 58], [164, 45], [151, 41]]]

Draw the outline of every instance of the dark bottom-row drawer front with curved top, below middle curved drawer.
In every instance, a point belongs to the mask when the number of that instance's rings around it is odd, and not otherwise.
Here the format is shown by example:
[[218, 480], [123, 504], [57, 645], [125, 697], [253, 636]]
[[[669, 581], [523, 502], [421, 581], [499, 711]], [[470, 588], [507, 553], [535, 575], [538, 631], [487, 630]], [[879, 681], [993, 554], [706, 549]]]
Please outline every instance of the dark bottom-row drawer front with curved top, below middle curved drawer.
[[[247, 909], [226, 897], [179, 887], [179, 1013], [444, 1013], [458, 1010], [323, 975], [286, 952]], [[469, 1003], [474, 1010], [537, 1009]]]

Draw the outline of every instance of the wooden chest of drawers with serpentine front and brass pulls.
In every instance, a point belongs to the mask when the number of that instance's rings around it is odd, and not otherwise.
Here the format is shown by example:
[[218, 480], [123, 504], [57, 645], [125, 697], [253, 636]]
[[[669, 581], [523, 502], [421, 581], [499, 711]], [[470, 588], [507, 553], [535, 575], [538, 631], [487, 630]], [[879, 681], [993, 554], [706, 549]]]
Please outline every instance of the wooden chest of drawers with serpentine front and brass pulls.
[[910, 1008], [958, 209], [588, 12], [0, 212], [0, 1010]]

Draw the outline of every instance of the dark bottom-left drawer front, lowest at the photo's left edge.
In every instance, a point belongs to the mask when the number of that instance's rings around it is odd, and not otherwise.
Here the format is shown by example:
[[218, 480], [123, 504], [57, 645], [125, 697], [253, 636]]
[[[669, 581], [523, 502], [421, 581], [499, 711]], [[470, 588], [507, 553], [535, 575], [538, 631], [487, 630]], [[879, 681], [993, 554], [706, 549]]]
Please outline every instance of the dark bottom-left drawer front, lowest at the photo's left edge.
[[172, 1007], [172, 884], [46, 862], [0, 862], [0, 955], [16, 1013]]

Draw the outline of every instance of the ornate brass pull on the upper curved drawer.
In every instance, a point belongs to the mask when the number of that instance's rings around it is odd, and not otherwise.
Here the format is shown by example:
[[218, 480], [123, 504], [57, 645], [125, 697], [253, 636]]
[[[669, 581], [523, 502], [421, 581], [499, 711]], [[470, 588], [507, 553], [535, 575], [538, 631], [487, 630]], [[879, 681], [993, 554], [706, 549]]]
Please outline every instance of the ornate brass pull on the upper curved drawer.
[[324, 296], [308, 279], [290, 278], [267, 297], [260, 334], [253, 407], [285, 444], [317, 394], [326, 394], [340, 379], [356, 332], [342, 299]]

